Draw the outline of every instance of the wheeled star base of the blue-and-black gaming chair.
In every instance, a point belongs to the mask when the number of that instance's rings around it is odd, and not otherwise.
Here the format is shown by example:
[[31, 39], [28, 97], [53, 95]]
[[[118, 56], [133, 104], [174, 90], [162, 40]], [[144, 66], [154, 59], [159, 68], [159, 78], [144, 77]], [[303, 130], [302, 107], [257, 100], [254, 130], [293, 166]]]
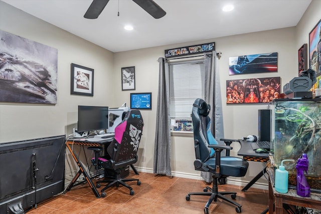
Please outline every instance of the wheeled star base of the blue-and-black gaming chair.
[[[216, 191], [214, 189], [216, 189]], [[208, 190], [210, 190], [210, 192], [208, 192]], [[227, 202], [230, 202], [230, 203], [236, 205], [235, 210], [236, 210], [237, 213], [242, 212], [242, 208], [241, 208], [242, 205], [237, 203], [237, 202], [235, 202], [235, 201], [233, 201], [233, 200], [231, 200], [231, 199], [229, 199], [229, 198], [227, 198], [227, 197], [224, 197], [224, 195], [226, 195], [226, 194], [231, 194], [232, 199], [236, 198], [236, 192], [232, 192], [232, 191], [221, 191], [221, 192], [219, 192], [219, 191], [217, 191], [217, 186], [215, 187], [215, 184], [213, 184], [213, 188], [211, 188], [209, 186], [206, 186], [204, 188], [203, 192], [189, 192], [186, 195], [185, 199], [186, 200], [190, 200], [190, 196], [191, 195], [208, 195], [208, 196], [210, 196], [210, 199], [207, 201], [207, 203], [206, 203], [206, 205], [204, 207], [204, 213], [205, 214], [210, 213], [209, 212], [209, 206], [213, 201], [216, 202], [217, 198], [221, 198], [221, 199], [223, 199], [223, 200], [225, 200]]]

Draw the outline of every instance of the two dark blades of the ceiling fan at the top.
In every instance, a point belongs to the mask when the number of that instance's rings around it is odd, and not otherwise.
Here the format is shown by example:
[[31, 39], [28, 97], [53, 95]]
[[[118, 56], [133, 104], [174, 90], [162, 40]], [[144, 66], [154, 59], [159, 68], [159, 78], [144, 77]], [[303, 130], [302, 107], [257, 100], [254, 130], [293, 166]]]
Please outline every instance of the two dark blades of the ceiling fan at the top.
[[[132, 0], [139, 7], [144, 9], [148, 14], [150, 14], [153, 18], [159, 19], [166, 15], [166, 12], [159, 7], [152, 0]], [[97, 19], [101, 12], [104, 10], [105, 6], [109, 0], [93, 0], [91, 5], [89, 6], [84, 18], [86, 19]]]

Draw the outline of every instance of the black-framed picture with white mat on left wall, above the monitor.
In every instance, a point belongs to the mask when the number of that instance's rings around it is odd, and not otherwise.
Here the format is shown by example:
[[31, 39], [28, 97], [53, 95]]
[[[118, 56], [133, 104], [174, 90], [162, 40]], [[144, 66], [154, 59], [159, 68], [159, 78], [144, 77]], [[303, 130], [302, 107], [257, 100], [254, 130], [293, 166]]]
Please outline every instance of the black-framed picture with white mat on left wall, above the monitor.
[[71, 64], [70, 94], [94, 96], [94, 69]]

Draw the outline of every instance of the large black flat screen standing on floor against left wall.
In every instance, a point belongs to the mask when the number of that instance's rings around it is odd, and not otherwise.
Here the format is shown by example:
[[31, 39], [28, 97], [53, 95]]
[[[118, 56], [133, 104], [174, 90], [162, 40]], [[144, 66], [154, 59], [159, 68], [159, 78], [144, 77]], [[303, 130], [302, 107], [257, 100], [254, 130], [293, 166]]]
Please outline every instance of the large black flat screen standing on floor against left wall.
[[65, 135], [0, 143], [0, 213], [25, 213], [63, 192]]

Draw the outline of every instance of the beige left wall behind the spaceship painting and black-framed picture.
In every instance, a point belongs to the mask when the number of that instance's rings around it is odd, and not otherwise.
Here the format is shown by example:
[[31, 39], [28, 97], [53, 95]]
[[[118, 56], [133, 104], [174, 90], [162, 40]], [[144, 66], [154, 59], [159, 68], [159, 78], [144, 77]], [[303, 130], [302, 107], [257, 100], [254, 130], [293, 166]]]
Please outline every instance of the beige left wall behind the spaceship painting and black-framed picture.
[[[113, 53], [0, 2], [0, 29], [58, 49], [56, 105], [1, 103], [0, 142], [70, 134], [78, 105], [113, 103]], [[70, 64], [94, 69], [94, 96], [70, 95]]]

